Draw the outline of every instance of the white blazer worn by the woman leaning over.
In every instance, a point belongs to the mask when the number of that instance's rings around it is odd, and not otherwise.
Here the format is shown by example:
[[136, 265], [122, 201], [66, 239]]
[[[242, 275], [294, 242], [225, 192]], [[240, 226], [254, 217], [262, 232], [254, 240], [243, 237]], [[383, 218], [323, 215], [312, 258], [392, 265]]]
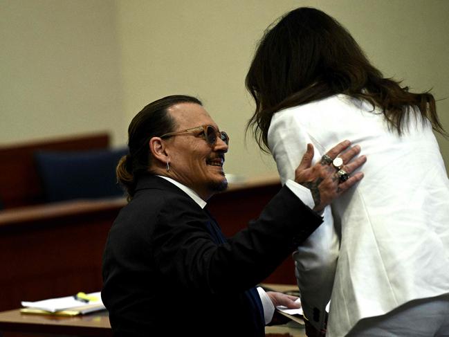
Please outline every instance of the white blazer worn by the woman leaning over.
[[294, 178], [307, 143], [314, 163], [345, 139], [367, 156], [363, 180], [324, 210], [324, 224], [293, 255], [304, 313], [318, 329], [332, 298], [327, 337], [449, 293], [449, 181], [430, 122], [416, 116], [398, 136], [371, 104], [334, 95], [271, 120], [282, 182]]

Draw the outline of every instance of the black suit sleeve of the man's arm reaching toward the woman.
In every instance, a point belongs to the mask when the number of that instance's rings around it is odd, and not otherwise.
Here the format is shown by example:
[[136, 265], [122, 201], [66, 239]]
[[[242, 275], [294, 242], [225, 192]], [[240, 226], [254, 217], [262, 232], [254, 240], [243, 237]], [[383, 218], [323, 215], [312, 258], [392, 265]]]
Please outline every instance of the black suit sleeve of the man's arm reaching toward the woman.
[[161, 208], [152, 235], [158, 271], [180, 290], [232, 293], [249, 289], [322, 223], [318, 214], [284, 187], [258, 219], [217, 244], [205, 228], [205, 212], [192, 203], [187, 198], [170, 200]]

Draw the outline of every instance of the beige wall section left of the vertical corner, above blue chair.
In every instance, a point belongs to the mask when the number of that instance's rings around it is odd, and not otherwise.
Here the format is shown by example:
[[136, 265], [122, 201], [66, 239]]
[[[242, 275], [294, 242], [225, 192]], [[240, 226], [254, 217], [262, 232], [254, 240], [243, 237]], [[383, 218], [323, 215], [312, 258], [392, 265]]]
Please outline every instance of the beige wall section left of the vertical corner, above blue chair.
[[122, 141], [115, 10], [113, 1], [0, 0], [0, 144], [98, 130]]

